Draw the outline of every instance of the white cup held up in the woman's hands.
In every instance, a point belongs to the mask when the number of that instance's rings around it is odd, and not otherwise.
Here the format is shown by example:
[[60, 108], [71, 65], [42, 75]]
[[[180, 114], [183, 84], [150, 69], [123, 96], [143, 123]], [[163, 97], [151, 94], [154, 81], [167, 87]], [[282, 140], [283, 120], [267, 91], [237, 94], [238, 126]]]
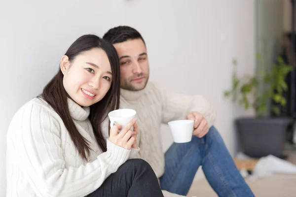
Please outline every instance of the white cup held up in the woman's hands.
[[[133, 109], [116, 109], [109, 112], [108, 116], [110, 119], [110, 128], [113, 127], [113, 124], [121, 125], [123, 129], [133, 118], [135, 118], [137, 112]], [[131, 131], [134, 131], [132, 126]]]

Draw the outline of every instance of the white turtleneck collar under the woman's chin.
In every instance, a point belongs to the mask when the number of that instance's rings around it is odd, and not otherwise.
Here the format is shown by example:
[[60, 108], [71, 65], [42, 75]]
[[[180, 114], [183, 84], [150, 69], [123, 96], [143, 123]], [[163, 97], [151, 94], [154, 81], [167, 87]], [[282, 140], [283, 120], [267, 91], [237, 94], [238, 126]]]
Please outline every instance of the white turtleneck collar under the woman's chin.
[[68, 107], [70, 115], [74, 120], [84, 121], [88, 118], [90, 113], [89, 107], [81, 107], [74, 100], [68, 98]]

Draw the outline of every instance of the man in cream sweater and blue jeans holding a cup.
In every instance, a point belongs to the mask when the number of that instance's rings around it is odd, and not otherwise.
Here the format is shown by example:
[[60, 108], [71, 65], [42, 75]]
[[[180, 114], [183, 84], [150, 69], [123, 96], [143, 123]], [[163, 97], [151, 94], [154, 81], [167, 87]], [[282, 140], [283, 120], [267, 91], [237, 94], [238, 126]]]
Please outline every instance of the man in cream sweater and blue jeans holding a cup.
[[[121, 108], [137, 111], [139, 158], [146, 160], [160, 180], [162, 190], [186, 195], [198, 167], [222, 197], [253, 197], [237, 170], [221, 135], [213, 127], [216, 112], [202, 96], [172, 94], [148, 83], [146, 44], [131, 27], [109, 30], [104, 39], [115, 47], [120, 62]], [[178, 119], [194, 120], [192, 140], [173, 143], [162, 151], [160, 126]]]

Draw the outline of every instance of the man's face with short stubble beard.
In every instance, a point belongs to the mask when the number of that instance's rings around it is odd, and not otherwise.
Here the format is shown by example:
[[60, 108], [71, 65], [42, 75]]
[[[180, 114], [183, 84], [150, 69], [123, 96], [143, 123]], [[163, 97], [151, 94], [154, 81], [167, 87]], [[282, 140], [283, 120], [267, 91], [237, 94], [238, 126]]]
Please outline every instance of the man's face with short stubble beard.
[[113, 44], [120, 63], [120, 86], [138, 91], [146, 87], [149, 64], [146, 46], [141, 38]]

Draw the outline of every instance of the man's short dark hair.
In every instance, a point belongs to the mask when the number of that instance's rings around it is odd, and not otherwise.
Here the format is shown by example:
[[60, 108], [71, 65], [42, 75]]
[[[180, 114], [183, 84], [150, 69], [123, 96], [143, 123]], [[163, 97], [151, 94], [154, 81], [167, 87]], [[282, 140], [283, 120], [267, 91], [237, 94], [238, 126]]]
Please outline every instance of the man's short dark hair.
[[141, 38], [145, 44], [145, 41], [142, 35], [134, 28], [131, 28], [128, 26], [118, 26], [118, 27], [112, 28], [107, 33], [105, 33], [103, 38], [111, 42], [111, 44]]

